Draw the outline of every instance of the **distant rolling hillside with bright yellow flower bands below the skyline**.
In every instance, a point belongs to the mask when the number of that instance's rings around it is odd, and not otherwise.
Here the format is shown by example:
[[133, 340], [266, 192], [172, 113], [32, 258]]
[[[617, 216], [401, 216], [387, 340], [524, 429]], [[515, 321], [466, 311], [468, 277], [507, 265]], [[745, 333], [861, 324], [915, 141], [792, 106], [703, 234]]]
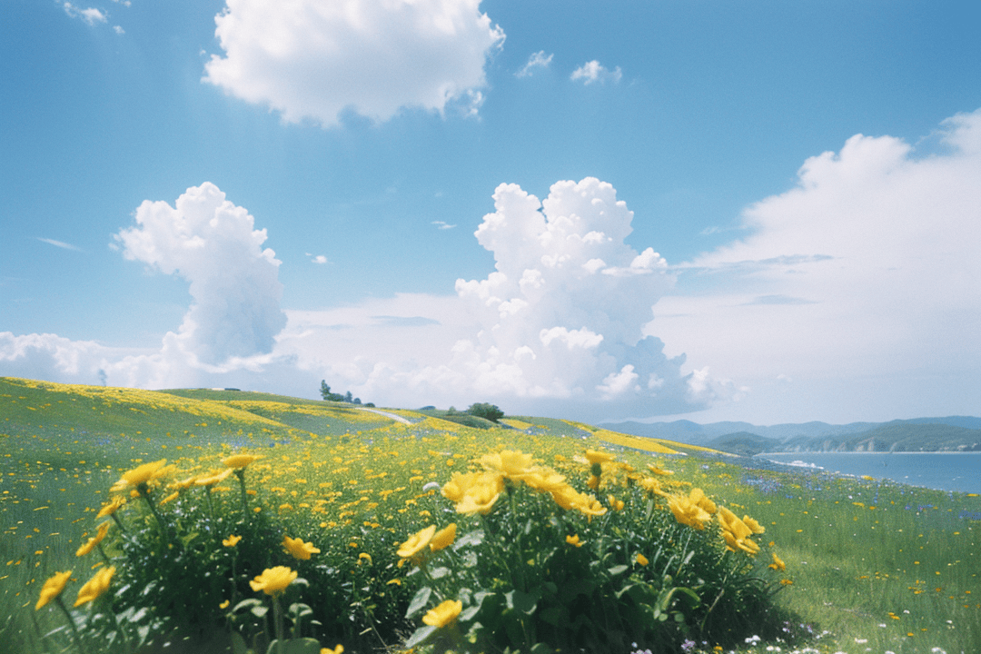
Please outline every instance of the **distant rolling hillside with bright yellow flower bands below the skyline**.
[[[111, 445], [119, 456], [149, 441], [181, 450], [206, 444], [269, 445], [294, 439], [355, 434], [402, 421], [434, 429], [452, 427], [445, 412], [369, 409], [344, 402], [307, 400], [236, 390], [161, 391], [51, 383], [0, 377], [0, 438], [30, 437], [64, 444]], [[453, 417], [448, 417], [453, 418]], [[473, 417], [466, 417], [473, 419]], [[594, 439], [662, 454], [723, 452], [660, 438], [637, 438], [568, 421], [522, 417], [481, 428]], [[8, 443], [13, 441], [8, 441]], [[129, 461], [129, 459], [125, 459]]]

